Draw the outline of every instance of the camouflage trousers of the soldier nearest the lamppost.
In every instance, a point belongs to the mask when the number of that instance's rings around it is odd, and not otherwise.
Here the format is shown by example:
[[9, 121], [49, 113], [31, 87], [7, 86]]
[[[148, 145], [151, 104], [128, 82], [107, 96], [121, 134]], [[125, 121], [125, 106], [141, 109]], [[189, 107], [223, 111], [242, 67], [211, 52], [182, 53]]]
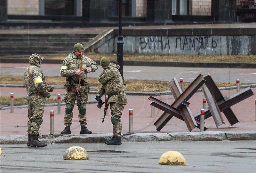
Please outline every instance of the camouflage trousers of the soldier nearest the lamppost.
[[118, 123], [113, 125], [113, 136], [121, 137], [122, 133], [122, 122], [121, 122], [121, 116], [124, 110], [125, 105], [120, 105], [119, 103], [111, 102], [110, 103], [110, 110], [111, 115], [116, 115], [116, 120]]

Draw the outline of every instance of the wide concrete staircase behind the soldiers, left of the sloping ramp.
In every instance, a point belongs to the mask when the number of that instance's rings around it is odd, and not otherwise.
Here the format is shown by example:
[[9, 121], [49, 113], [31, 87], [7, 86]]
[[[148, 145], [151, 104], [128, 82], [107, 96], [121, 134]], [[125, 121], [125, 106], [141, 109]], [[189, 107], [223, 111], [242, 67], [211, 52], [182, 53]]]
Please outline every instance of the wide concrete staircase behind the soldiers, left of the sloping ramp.
[[97, 34], [1, 34], [1, 57], [68, 53], [76, 43], [84, 46]]

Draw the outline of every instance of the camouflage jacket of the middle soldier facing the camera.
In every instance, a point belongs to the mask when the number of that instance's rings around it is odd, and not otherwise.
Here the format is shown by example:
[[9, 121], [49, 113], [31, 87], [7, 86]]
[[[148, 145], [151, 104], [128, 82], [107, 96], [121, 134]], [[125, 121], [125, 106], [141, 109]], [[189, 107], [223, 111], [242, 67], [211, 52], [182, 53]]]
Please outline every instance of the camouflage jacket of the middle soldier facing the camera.
[[[60, 75], [62, 77], [70, 77], [72, 76], [75, 83], [79, 82], [79, 76], [76, 75], [75, 71], [80, 70], [80, 63], [82, 59], [82, 71], [84, 71], [84, 74], [81, 76], [81, 79], [84, 79], [86, 82], [87, 80], [87, 73], [84, 70], [86, 67], [90, 67], [92, 69], [92, 72], [95, 72], [98, 69], [98, 64], [94, 62], [92, 59], [88, 58], [87, 56], [82, 56], [81, 58], [77, 57], [75, 55], [75, 52], [70, 53], [62, 62], [62, 66], [60, 69]], [[69, 85], [69, 82], [65, 82], [65, 87], [67, 88]], [[89, 92], [89, 83], [85, 83], [85, 85], [88, 87]], [[81, 87], [83, 88], [83, 87]]]

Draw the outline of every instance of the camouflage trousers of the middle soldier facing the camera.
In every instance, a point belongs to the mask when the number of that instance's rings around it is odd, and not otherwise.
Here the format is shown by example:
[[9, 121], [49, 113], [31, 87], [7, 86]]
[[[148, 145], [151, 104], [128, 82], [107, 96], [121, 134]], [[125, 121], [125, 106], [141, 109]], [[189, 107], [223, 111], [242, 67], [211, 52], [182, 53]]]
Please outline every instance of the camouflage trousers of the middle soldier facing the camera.
[[[86, 104], [87, 101], [88, 101], [88, 93], [84, 92], [83, 87], [80, 87], [79, 94], [80, 94], [80, 98], [81, 98], [82, 103]], [[66, 114], [66, 112], [65, 112], [65, 116], [64, 116], [65, 126], [70, 126], [72, 124], [73, 109], [74, 109], [75, 101], [77, 102], [79, 112], [80, 112], [80, 107], [79, 106], [81, 105], [81, 103], [80, 103], [80, 101], [78, 101], [79, 99], [77, 98], [76, 92], [74, 92], [73, 89], [70, 90], [70, 91], [66, 90], [64, 100], [65, 100], [66, 104], [73, 105], [72, 113], [71, 114]], [[87, 124], [87, 122], [86, 122], [86, 113], [85, 114], [80, 114], [79, 113], [78, 114], [78, 119], [79, 119], [79, 122], [80, 122], [80, 126], [86, 126], [86, 124]]]

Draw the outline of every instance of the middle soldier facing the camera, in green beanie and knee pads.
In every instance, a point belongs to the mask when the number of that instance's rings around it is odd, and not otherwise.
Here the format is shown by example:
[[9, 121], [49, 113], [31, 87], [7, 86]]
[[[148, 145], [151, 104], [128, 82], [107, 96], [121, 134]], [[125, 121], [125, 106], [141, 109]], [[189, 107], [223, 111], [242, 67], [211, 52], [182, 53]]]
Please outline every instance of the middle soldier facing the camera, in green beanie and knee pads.
[[[82, 70], [80, 70], [82, 62]], [[81, 134], [89, 133], [91, 134], [92, 131], [86, 128], [86, 107], [85, 104], [88, 101], [88, 92], [89, 92], [89, 82], [87, 81], [87, 73], [95, 72], [98, 69], [98, 64], [94, 62], [92, 59], [84, 56], [84, 47], [80, 43], [76, 43], [74, 46], [74, 51], [70, 53], [62, 62], [60, 75], [63, 77], [72, 77], [74, 83], [78, 87], [79, 83], [79, 76], [81, 76], [81, 86], [79, 88], [80, 98], [83, 104], [78, 101], [76, 96], [76, 92], [72, 88], [68, 91], [68, 86], [70, 83], [68, 81], [65, 82], [66, 93], [65, 93], [65, 103], [66, 103], [66, 110], [65, 110], [65, 129], [60, 134], [71, 134], [70, 125], [72, 124], [73, 118], [73, 108], [75, 105], [75, 101], [77, 101], [78, 106], [78, 118], [81, 126]], [[83, 84], [84, 83], [84, 84]]]

